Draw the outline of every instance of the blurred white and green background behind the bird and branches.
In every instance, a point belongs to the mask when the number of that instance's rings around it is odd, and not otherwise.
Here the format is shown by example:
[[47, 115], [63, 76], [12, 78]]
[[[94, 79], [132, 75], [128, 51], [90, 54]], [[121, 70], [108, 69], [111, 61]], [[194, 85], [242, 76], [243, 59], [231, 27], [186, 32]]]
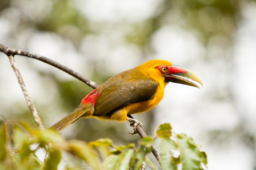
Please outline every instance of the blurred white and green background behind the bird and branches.
[[[101, 84], [147, 60], [195, 72], [199, 90], [169, 83], [162, 102], [135, 115], [148, 135], [170, 123], [202, 145], [209, 170], [256, 170], [256, 1], [1, 0], [0, 43], [49, 57]], [[45, 128], [92, 88], [42, 62], [16, 56]], [[35, 126], [8, 57], [0, 53], [0, 114]], [[76, 121], [66, 139], [136, 142], [128, 122]]]

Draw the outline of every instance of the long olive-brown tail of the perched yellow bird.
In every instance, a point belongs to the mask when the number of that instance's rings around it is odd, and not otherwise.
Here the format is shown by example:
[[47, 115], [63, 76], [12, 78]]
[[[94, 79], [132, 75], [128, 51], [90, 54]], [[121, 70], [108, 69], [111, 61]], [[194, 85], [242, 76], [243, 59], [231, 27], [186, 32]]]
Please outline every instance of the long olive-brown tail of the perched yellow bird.
[[82, 116], [83, 118], [92, 117], [91, 115], [93, 114], [93, 112], [94, 107], [92, 106], [92, 104], [90, 104], [89, 106], [88, 104], [81, 104], [72, 113], [58, 121], [49, 129], [54, 130], [56, 132], [60, 132], [61, 130], [65, 129], [67, 126], [74, 123], [74, 121], [76, 121]]

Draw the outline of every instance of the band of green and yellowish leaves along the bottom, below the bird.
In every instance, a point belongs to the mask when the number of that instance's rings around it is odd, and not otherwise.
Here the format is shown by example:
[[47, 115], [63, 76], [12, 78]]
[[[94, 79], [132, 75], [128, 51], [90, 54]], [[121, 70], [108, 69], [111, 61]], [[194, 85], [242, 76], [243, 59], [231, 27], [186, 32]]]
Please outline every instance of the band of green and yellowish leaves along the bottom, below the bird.
[[[144, 137], [139, 146], [126, 144], [115, 146], [111, 139], [98, 139], [89, 143], [79, 140], [65, 140], [50, 130], [32, 129], [15, 120], [0, 122], [0, 169], [1, 170], [57, 170], [65, 158], [63, 153], [74, 155], [76, 159], [93, 170], [139, 170], [144, 163], [152, 170], [157, 165], [148, 157], [159, 138], [160, 168], [163, 170], [201, 170], [207, 164], [205, 152], [191, 137], [185, 134], [175, 135], [170, 124], [162, 124], [157, 128], [156, 137]], [[38, 151], [46, 150], [47, 159], [40, 160]], [[176, 153], [176, 154], [175, 154]], [[177, 154], [178, 153], [178, 154]], [[68, 164], [68, 161], [65, 160]], [[158, 165], [159, 166], [159, 165]], [[70, 168], [66, 165], [65, 169]]]

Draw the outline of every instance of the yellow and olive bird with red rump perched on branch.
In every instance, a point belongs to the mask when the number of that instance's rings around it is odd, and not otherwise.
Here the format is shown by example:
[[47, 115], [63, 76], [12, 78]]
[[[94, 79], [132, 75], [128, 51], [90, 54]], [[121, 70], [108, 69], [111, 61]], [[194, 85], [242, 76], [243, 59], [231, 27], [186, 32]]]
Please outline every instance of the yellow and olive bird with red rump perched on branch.
[[130, 121], [135, 130], [142, 124], [132, 115], [145, 113], [157, 106], [164, 97], [168, 82], [197, 88], [203, 86], [200, 78], [187, 68], [165, 60], [149, 60], [103, 82], [86, 95], [72, 113], [49, 129], [60, 132], [77, 119], [97, 118]]

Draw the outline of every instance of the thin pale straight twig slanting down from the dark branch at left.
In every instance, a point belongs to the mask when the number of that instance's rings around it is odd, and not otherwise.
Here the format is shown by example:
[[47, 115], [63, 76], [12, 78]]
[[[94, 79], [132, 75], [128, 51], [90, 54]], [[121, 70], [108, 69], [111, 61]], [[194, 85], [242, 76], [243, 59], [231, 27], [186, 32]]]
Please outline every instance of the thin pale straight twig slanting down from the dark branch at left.
[[31, 111], [31, 113], [32, 113], [32, 115], [34, 117], [34, 120], [36, 121], [36, 126], [38, 128], [40, 128], [40, 129], [44, 129], [42, 121], [41, 121], [40, 117], [38, 116], [38, 113], [36, 111], [36, 107], [34, 106], [31, 97], [29, 96], [29, 93], [27, 91], [25, 83], [24, 83], [24, 81], [22, 79], [22, 76], [20, 74], [20, 71], [18, 69], [18, 66], [17, 66], [17, 64], [16, 64], [12, 54], [9, 55], [9, 60], [10, 60], [10, 63], [11, 63], [11, 67], [12, 67], [12, 69], [13, 69], [13, 71], [14, 71], [17, 79], [18, 79], [18, 82], [20, 84], [21, 90], [22, 90], [23, 95], [24, 95], [24, 97], [26, 99], [27, 105], [29, 106], [29, 110]]

